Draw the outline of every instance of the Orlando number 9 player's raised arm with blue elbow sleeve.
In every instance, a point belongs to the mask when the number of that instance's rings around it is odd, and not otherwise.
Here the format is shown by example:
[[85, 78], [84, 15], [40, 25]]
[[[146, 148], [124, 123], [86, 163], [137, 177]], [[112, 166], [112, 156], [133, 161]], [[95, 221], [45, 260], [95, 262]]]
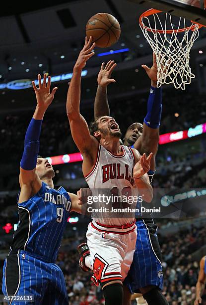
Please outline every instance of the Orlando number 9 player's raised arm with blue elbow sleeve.
[[36, 94], [37, 106], [33, 118], [29, 124], [24, 141], [24, 152], [20, 162], [19, 183], [21, 187], [19, 202], [28, 200], [36, 194], [41, 188], [42, 182], [36, 172], [37, 155], [39, 152], [39, 136], [44, 114], [54, 99], [57, 87], [50, 93], [51, 77], [44, 74], [43, 83], [41, 76], [38, 75], [39, 87], [37, 88], [34, 81], [32, 85]]

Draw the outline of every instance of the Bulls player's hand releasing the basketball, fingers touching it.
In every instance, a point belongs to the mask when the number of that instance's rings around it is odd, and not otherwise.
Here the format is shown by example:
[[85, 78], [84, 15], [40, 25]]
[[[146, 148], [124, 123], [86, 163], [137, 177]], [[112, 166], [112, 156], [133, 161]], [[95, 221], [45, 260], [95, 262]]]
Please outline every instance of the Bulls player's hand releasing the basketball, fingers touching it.
[[87, 60], [94, 55], [94, 52], [91, 52], [95, 47], [95, 42], [92, 43], [92, 36], [88, 39], [87, 36], [85, 37], [85, 44], [83, 49], [80, 51], [77, 61], [74, 65], [74, 68], [83, 69], [86, 65]]

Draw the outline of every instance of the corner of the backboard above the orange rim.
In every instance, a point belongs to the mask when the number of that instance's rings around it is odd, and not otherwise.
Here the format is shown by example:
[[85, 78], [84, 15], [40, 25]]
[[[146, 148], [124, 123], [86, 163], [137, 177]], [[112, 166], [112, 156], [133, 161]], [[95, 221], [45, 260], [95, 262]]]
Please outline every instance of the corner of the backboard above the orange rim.
[[206, 26], [206, 0], [129, 0], [146, 9], [155, 8]]

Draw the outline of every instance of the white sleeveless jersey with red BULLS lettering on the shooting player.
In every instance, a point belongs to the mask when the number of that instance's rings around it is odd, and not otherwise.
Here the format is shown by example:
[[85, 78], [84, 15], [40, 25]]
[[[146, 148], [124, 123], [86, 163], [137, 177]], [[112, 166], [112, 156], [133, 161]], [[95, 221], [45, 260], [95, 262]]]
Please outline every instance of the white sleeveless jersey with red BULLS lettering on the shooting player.
[[[136, 197], [136, 201], [130, 203], [130, 207], [136, 206], [138, 189], [133, 178], [133, 168], [135, 157], [131, 148], [121, 145], [122, 155], [114, 155], [107, 151], [103, 146], [99, 145], [96, 162], [91, 172], [85, 176], [85, 180], [92, 190], [93, 198], [95, 195], [107, 194], [116, 196], [131, 196], [130, 198]], [[104, 190], [103, 190], [104, 189]], [[105, 200], [106, 202], [106, 200]], [[98, 203], [95, 207], [112, 207], [113, 208], [124, 208], [128, 206], [127, 203]], [[114, 209], [113, 209], [114, 210]], [[111, 211], [111, 210], [110, 210]], [[135, 213], [113, 213], [110, 211], [107, 213], [93, 213], [92, 219], [96, 222], [107, 224], [107, 225], [124, 225], [133, 223], [135, 219]], [[123, 209], [124, 211], [124, 209]], [[96, 211], [95, 211], [96, 212]], [[116, 218], [116, 216], [118, 217]], [[129, 217], [129, 218], [127, 218]]]

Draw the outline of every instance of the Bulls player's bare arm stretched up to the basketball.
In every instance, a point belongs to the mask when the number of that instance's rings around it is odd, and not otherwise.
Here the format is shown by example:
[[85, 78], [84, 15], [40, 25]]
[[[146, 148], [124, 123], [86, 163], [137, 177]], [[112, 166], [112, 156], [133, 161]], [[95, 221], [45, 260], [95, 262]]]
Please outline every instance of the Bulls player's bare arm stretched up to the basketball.
[[90, 39], [85, 37], [84, 47], [80, 51], [73, 68], [73, 76], [67, 95], [67, 116], [71, 135], [79, 152], [84, 157], [82, 165], [84, 175], [91, 170], [99, 147], [98, 141], [93, 136], [90, 136], [88, 125], [79, 111], [81, 71], [85, 67], [86, 61], [94, 55], [94, 52], [91, 51], [94, 49], [95, 43], [91, 44], [91, 41], [92, 37]]

